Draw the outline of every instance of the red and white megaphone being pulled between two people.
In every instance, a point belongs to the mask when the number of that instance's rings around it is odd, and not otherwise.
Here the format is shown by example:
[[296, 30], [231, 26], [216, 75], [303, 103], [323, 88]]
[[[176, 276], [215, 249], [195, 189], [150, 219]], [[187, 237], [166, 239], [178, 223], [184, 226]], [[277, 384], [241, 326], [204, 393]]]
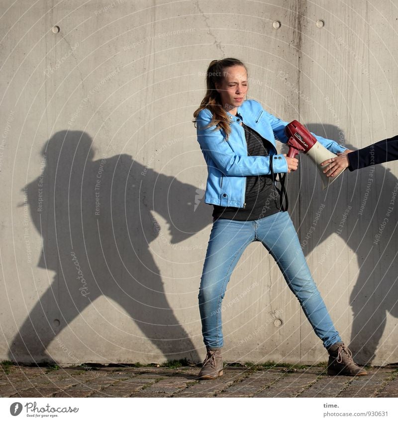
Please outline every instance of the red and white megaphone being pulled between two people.
[[316, 138], [309, 133], [305, 127], [298, 122], [293, 120], [285, 127], [285, 133], [289, 138], [289, 153], [288, 157], [295, 158], [299, 151], [303, 151], [316, 165], [322, 179], [322, 189], [326, 189], [329, 184], [333, 183], [337, 177], [344, 171], [342, 169], [337, 175], [333, 177], [327, 177], [323, 170], [328, 166], [321, 166], [320, 163], [328, 160], [329, 158], [337, 157], [336, 154], [331, 153], [322, 144], [320, 144]]

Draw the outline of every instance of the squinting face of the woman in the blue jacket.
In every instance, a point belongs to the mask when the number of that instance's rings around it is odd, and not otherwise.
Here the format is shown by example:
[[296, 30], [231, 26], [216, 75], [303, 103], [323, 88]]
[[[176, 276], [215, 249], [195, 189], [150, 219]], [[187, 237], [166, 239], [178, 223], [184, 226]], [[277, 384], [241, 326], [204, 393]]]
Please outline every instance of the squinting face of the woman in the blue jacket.
[[243, 66], [224, 68], [223, 80], [216, 84], [217, 92], [221, 95], [221, 104], [231, 114], [236, 113], [245, 99], [247, 92], [247, 73]]

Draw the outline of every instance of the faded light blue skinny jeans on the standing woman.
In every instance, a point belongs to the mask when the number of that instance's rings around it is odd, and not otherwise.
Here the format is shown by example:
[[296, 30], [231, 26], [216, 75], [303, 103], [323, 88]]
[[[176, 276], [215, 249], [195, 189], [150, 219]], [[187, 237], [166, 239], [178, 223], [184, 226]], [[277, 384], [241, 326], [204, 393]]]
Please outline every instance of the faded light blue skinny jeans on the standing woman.
[[222, 347], [221, 302], [243, 251], [261, 242], [279, 265], [315, 334], [328, 347], [341, 338], [312, 279], [288, 212], [253, 221], [213, 222], [199, 287], [199, 312], [207, 348]]

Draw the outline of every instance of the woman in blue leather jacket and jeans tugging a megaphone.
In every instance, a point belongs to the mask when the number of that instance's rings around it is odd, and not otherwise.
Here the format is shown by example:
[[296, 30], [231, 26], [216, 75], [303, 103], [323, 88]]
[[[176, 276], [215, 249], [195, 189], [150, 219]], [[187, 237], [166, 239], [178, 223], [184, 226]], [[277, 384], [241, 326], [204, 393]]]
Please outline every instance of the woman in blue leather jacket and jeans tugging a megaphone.
[[[237, 59], [213, 60], [207, 91], [194, 113], [198, 141], [207, 164], [205, 202], [212, 204], [210, 233], [199, 287], [199, 311], [207, 349], [200, 379], [222, 375], [221, 301], [239, 257], [261, 242], [278, 263], [315, 334], [329, 352], [328, 374], [367, 375], [341, 341], [311, 277], [296, 230], [281, 209], [275, 173], [298, 168], [298, 160], [277, 154], [275, 138], [287, 142], [287, 125], [254, 100], [245, 100], [246, 66]], [[333, 153], [346, 151], [317, 137]]]

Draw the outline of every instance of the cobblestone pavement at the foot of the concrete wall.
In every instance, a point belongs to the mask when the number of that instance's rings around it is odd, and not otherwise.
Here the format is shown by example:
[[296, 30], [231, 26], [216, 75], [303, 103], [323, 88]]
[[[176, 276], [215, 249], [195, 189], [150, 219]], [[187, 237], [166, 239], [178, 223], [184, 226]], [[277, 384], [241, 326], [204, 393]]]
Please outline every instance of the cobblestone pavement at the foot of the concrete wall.
[[0, 397], [398, 397], [398, 367], [364, 377], [331, 377], [325, 368], [225, 366], [216, 380], [199, 368], [2, 366]]

